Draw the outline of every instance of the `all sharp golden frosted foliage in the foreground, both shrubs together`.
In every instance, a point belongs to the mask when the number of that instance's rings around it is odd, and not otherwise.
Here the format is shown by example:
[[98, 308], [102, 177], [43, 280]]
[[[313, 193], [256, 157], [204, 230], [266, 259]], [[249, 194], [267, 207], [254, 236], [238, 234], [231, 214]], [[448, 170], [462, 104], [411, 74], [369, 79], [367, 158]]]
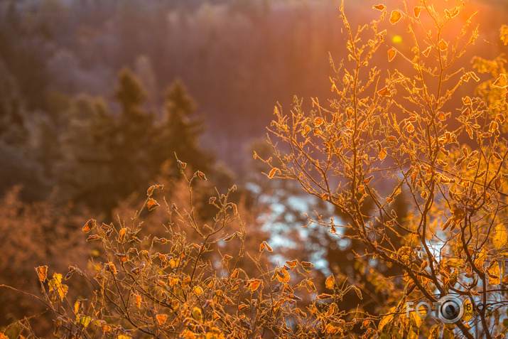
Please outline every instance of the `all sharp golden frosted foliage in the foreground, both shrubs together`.
[[[306, 214], [308, 225], [357, 244], [355, 269], [372, 288], [338, 270], [319, 279], [313, 263], [275, 257], [270, 240], [250, 237], [244, 206], [230, 198], [236, 187], [205, 197], [205, 173], [177, 158], [178, 195], [166, 200], [163, 185], [151, 185], [129, 221], [83, 222], [98, 251], [86, 269], [36, 267], [42, 294], [33, 297], [50, 310], [54, 334], [504, 338], [506, 60], [477, 57], [471, 69], [458, 67], [477, 39], [474, 16], [458, 21], [463, 1], [439, 7], [378, 4], [377, 19], [354, 28], [342, 4], [349, 55], [338, 64], [330, 58], [332, 96], [326, 104], [312, 98], [309, 112], [298, 98], [288, 114], [275, 107], [273, 154], [254, 153], [268, 178], [296, 181], [343, 216]], [[387, 41], [400, 26], [409, 47]], [[386, 68], [373, 64], [379, 54]], [[86, 286], [79, 296], [71, 296], [75, 281]], [[353, 292], [359, 303], [342, 303]], [[476, 311], [443, 324], [407, 308], [446, 295]], [[4, 333], [34, 335], [29, 319]]]

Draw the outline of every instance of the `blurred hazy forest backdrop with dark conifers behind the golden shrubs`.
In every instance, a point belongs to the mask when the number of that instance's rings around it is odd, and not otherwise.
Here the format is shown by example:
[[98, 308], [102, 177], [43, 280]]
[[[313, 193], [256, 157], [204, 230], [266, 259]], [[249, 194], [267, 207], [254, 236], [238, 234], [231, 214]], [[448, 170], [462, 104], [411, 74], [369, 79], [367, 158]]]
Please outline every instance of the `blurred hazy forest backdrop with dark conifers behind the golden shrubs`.
[[[353, 27], [379, 16], [372, 9], [378, 1], [345, 3]], [[470, 67], [473, 55], [506, 52], [497, 41], [508, 2], [466, 4], [460, 20], [479, 11], [473, 26], [480, 23], [480, 38], [461, 61]], [[268, 181], [252, 159], [254, 149], [270, 152], [263, 139], [277, 102], [289, 112], [294, 95], [304, 104], [330, 97], [329, 58], [347, 58], [339, 6], [0, 1], [0, 284], [37, 291], [39, 264], [66, 269], [73, 260], [86, 267], [93, 253], [84, 247], [82, 225], [90, 217], [130, 217], [126, 212], [139, 207], [153, 183], [166, 184], [169, 202], [182, 187], [175, 152], [206, 173], [208, 192], [236, 183], [252, 234], [286, 247], [286, 257], [317, 260], [325, 273], [358, 270], [352, 244], [301, 231], [303, 211], [338, 212], [291, 183]], [[404, 34], [390, 31], [387, 45], [404, 50]], [[383, 67], [386, 53], [380, 55]], [[0, 325], [36, 313], [33, 302], [18, 298], [0, 290]]]

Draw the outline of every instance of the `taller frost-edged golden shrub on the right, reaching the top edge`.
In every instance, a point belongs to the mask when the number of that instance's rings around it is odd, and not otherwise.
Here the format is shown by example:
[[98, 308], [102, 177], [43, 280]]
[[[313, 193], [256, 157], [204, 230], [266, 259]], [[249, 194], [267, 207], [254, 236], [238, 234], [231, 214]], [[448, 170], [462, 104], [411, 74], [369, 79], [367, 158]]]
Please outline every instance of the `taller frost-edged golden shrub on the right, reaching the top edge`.
[[[392, 11], [374, 6], [379, 19], [356, 31], [341, 7], [349, 55], [339, 65], [330, 59], [334, 97], [328, 104], [313, 98], [310, 113], [299, 99], [290, 114], [275, 108], [269, 143], [279, 165], [263, 160], [271, 165], [267, 176], [298, 181], [344, 213], [342, 225], [319, 215], [309, 220], [359, 242], [354, 250], [364, 270], [377, 274], [369, 261], [399, 269], [401, 278], [386, 276], [394, 289], [377, 286], [390, 298], [379, 305], [379, 316], [372, 315], [381, 338], [438, 338], [441, 332], [443, 338], [502, 338], [508, 284], [505, 60], [475, 59], [478, 74], [492, 76], [485, 82], [458, 66], [478, 36], [471, 18], [457, 25], [463, 1], [441, 10], [425, 0], [412, 8], [403, 4]], [[404, 26], [411, 45], [389, 42], [384, 58], [397, 64], [383, 70], [372, 63], [379, 63], [391, 26]], [[504, 42], [506, 34], [502, 29]], [[480, 85], [460, 95], [467, 82]], [[409, 198], [404, 218], [394, 208], [401, 195]], [[444, 296], [459, 298], [455, 306], [463, 303], [466, 310], [453, 324], [422, 325], [409, 308]]]

